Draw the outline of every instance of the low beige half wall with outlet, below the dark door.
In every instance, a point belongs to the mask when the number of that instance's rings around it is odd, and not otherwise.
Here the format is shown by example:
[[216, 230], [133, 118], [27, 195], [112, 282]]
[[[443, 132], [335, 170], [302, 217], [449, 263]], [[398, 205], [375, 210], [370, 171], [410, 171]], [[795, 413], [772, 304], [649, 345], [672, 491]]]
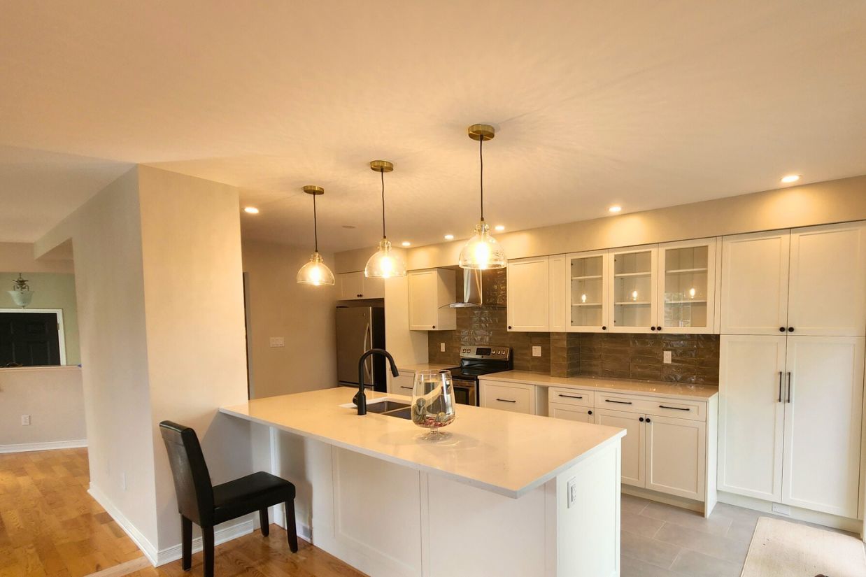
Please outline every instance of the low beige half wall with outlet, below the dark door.
[[[30, 425], [21, 425], [22, 415]], [[77, 366], [0, 371], [0, 453], [40, 444], [85, 444], [84, 390]]]

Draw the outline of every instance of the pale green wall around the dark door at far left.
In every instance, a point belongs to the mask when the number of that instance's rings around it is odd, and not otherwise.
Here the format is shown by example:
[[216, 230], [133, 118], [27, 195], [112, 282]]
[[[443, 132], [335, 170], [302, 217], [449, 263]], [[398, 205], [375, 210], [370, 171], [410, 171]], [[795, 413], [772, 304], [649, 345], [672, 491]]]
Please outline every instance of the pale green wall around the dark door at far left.
[[[32, 247], [32, 245], [31, 245]], [[0, 308], [19, 308], [7, 292], [18, 273], [0, 272]], [[28, 308], [60, 308], [63, 311], [63, 339], [66, 364], [81, 363], [78, 343], [78, 306], [75, 303], [75, 277], [68, 273], [34, 273], [24, 276], [34, 292]]]

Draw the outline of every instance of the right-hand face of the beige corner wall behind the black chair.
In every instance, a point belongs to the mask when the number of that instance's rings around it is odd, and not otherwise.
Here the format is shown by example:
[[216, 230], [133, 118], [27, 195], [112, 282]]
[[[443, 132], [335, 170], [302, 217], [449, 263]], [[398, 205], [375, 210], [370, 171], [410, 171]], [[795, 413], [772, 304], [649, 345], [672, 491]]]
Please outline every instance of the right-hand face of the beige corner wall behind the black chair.
[[249, 424], [217, 413], [247, 400], [240, 206], [233, 186], [148, 166], [139, 199], [162, 560], [181, 535], [159, 421], [197, 431], [213, 483], [253, 472]]

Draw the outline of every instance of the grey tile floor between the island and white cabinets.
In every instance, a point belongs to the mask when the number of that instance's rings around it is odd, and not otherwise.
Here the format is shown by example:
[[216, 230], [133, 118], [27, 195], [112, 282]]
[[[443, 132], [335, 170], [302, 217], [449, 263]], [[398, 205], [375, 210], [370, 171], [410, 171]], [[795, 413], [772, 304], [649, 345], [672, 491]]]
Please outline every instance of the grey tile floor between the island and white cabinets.
[[620, 575], [739, 577], [760, 516], [775, 515], [719, 503], [704, 519], [694, 511], [623, 495]]

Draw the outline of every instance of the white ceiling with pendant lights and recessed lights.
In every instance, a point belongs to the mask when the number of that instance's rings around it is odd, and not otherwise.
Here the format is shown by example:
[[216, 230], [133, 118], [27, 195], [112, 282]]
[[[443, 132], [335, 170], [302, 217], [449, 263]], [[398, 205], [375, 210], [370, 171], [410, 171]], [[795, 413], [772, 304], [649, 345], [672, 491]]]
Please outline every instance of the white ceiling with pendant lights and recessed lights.
[[87, 5], [4, 3], [0, 241], [146, 163], [242, 187], [244, 235], [284, 243], [322, 185], [323, 248], [369, 246], [372, 159], [393, 241], [466, 237], [475, 122], [509, 230], [866, 173], [863, 0]]

